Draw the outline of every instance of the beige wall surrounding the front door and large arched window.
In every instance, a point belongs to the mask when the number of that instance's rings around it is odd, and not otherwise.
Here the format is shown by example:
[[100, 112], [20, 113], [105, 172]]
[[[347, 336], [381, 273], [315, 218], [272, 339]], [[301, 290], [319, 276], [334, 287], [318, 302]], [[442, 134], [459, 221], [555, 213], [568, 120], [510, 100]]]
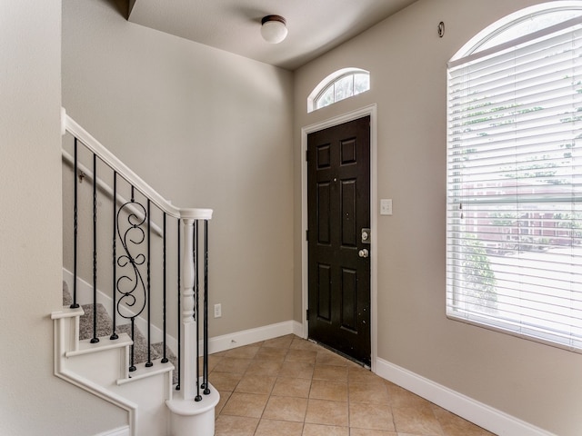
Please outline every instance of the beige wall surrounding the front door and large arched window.
[[[302, 127], [377, 104], [378, 357], [559, 435], [582, 429], [582, 355], [445, 316], [446, 65], [472, 36], [532, 0], [420, 0], [296, 71], [295, 264], [300, 265]], [[446, 35], [437, 36], [444, 21]], [[306, 114], [320, 80], [369, 70], [371, 91]], [[301, 271], [295, 271], [300, 319]]]

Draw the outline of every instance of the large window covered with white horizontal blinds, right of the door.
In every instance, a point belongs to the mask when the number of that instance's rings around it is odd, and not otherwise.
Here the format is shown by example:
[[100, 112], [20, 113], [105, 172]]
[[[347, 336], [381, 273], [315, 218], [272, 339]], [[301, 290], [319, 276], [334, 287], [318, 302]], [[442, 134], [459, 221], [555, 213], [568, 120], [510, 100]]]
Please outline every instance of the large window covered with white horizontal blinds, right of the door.
[[448, 65], [447, 316], [582, 352], [582, 10], [526, 13]]

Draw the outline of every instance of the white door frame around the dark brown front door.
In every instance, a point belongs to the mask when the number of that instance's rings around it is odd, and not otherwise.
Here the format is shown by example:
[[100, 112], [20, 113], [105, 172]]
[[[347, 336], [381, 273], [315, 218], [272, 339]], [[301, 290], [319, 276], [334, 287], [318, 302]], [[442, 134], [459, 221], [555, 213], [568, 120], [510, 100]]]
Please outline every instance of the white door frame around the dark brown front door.
[[306, 311], [308, 305], [308, 246], [307, 231], [307, 134], [312, 134], [328, 127], [344, 124], [349, 121], [370, 115], [370, 346], [372, 372], [376, 372], [377, 357], [377, 115], [376, 104], [341, 114], [320, 123], [307, 125], [301, 129], [301, 283], [303, 337], [307, 338], [308, 326]]

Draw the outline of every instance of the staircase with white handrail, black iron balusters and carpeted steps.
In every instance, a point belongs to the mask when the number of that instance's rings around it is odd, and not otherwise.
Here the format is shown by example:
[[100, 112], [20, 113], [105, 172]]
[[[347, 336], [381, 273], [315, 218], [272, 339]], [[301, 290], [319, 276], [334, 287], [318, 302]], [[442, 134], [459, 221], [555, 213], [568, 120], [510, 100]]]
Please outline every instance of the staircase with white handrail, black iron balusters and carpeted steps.
[[55, 376], [127, 412], [126, 425], [105, 434], [212, 436], [219, 401], [208, 381], [205, 318], [212, 211], [176, 208], [63, 120]]

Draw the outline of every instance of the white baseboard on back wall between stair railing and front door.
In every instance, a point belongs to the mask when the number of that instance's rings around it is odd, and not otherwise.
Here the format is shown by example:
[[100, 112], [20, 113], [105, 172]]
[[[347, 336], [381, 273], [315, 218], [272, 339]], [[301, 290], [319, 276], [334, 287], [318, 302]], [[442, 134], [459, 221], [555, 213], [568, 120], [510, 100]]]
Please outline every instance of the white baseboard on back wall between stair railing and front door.
[[303, 332], [302, 324], [296, 321], [286, 321], [257, 327], [256, 329], [244, 330], [242, 332], [228, 333], [210, 338], [208, 341], [208, 352], [211, 354], [213, 352], [224, 352], [232, 348], [242, 347], [243, 345], [275, 339], [286, 334], [296, 334], [301, 337], [297, 332]]

